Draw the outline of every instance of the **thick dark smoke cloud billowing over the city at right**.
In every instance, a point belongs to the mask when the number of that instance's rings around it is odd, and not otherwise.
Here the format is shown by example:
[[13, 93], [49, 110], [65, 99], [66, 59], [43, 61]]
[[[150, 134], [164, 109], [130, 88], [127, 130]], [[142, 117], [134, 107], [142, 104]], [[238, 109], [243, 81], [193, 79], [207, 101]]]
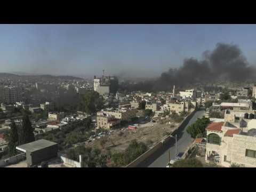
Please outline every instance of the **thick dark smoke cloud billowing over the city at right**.
[[[146, 82], [151, 90], [167, 90], [173, 85], [183, 87], [195, 83], [246, 81], [255, 79], [255, 68], [250, 66], [237, 45], [217, 43], [213, 51], [205, 51], [203, 60], [185, 59], [178, 69], [169, 69], [155, 82]], [[143, 83], [140, 83], [141, 88]], [[137, 85], [138, 86], [138, 85]], [[138, 90], [140, 87], [137, 87]]]

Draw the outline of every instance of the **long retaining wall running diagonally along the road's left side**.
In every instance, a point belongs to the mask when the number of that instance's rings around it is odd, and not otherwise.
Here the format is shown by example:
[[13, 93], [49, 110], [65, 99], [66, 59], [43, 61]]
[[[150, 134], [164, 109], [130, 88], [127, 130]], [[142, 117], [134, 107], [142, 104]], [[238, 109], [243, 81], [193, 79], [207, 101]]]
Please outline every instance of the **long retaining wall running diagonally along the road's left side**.
[[[175, 134], [176, 132], [182, 130], [185, 128], [185, 126], [188, 124], [188, 122], [190, 121], [190, 119], [194, 116], [195, 114], [195, 110], [189, 114], [181, 123], [180, 125], [177, 127], [177, 129], [175, 129], [172, 134]], [[135, 159], [133, 162], [131, 162], [130, 164], [126, 165], [126, 167], [137, 167], [140, 163], [144, 162], [147, 158], [149, 158], [151, 155], [154, 155], [155, 153], [157, 153], [159, 150], [164, 148], [164, 145], [166, 145], [168, 142], [170, 142], [171, 137], [167, 136], [165, 138], [163, 138], [163, 140], [159, 143], [157, 143], [153, 148], [149, 149], [148, 151], [146, 151], [144, 154], [142, 154], [141, 156], [139, 156], [137, 159]]]

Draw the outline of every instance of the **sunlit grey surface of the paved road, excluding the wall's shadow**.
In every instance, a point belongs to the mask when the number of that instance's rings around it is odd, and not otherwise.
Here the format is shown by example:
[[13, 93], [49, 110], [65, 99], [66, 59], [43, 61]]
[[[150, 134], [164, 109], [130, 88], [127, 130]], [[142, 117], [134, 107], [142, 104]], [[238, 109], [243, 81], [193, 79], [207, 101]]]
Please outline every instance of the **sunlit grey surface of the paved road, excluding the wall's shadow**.
[[[195, 115], [190, 119], [187, 126], [184, 130], [177, 134], [177, 148], [178, 153], [184, 153], [187, 147], [193, 142], [193, 138], [187, 133], [186, 129], [189, 125], [196, 122], [197, 118], [201, 118], [204, 114], [204, 110], [199, 110], [195, 113]], [[173, 139], [174, 145], [172, 145], [170, 149], [170, 159], [175, 158], [175, 139]], [[153, 163], [151, 163], [148, 167], [166, 167], [167, 162], [169, 161], [169, 150], [165, 150], [165, 152], [155, 159]]]

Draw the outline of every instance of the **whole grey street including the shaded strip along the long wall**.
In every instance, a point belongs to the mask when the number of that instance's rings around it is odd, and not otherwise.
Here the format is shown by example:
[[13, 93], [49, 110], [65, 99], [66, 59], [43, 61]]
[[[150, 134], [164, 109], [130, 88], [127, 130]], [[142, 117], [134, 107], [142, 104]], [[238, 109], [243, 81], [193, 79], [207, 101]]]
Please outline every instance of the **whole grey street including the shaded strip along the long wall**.
[[[204, 109], [196, 111], [195, 115], [190, 119], [185, 129], [181, 130], [177, 134], [177, 148], [178, 154], [184, 153], [185, 150], [193, 142], [193, 138], [186, 132], [189, 125], [196, 122], [197, 118], [201, 118], [204, 115]], [[146, 161], [140, 163], [138, 167], [166, 167], [169, 161], [169, 150], [170, 149], [170, 159], [175, 158], [175, 138], [167, 146], [157, 151], [153, 156], [151, 156]]]

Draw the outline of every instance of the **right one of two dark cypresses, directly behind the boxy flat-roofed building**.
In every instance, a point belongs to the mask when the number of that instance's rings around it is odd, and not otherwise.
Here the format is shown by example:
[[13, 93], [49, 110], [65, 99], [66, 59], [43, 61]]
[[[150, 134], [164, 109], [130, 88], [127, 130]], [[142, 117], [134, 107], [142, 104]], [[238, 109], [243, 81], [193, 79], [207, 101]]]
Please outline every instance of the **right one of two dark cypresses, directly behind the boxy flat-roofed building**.
[[34, 128], [31, 125], [28, 115], [24, 115], [22, 118], [22, 126], [20, 133], [20, 144], [35, 141]]

